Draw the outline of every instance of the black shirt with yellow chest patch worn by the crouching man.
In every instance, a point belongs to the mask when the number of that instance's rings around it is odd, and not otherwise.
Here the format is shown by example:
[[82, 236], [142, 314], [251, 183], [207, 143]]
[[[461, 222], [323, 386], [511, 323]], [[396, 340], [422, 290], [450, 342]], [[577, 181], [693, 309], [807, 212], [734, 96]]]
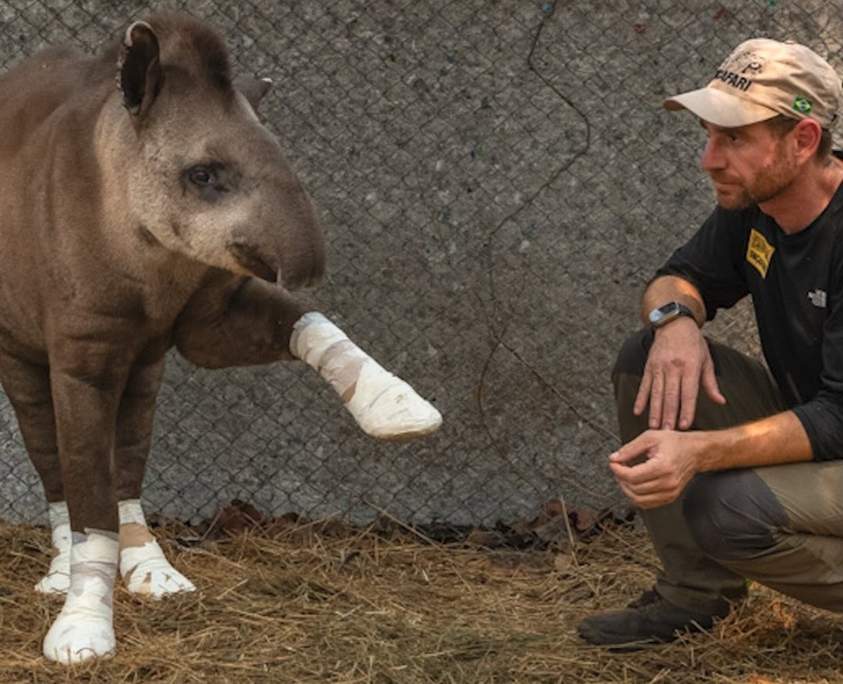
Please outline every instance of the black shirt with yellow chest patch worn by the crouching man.
[[709, 320], [751, 295], [767, 366], [814, 460], [843, 458], [843, 186], [795, 235], [757, 206], [718, 206], [657, 275], [696, 286]]

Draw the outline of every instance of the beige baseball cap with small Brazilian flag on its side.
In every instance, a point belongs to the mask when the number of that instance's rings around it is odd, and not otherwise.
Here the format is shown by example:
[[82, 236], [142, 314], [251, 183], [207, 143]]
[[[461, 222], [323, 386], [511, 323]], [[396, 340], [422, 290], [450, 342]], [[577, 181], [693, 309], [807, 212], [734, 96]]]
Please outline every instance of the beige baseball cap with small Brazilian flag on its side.
[[732, 51], [705, 88], [675, 95], [664, 108], [690, 110], [725, 128], [783, 114], [810, 117], [830, 129], [841, 98], [840, 77], [816, 52], [792, 41], [754, 38]]

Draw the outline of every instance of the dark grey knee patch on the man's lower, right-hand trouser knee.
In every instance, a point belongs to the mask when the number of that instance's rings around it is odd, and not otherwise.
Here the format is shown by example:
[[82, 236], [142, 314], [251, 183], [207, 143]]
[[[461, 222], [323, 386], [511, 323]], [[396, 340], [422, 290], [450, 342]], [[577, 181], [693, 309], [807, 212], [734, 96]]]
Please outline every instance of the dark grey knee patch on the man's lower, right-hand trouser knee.
[[723, 560], [763, 555], [787, 526], [787, 511], [751, 469], [698, 475], [685, 489], [682, 513], [703, 553]]

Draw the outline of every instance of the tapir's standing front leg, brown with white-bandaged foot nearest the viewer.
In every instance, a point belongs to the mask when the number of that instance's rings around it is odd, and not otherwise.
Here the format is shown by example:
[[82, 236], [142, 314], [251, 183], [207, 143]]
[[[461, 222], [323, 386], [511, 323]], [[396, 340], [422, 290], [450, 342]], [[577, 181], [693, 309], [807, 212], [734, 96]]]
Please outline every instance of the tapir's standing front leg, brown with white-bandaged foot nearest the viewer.
[[44, 655], [71, 663], [115, 649], [112, 595], [118, 516], [111, 456], [125, 376], [96, 350], [75, 350], [76, 363], [51, 366], [62, 484], [70, 513], [70, 587], [44, 639]]

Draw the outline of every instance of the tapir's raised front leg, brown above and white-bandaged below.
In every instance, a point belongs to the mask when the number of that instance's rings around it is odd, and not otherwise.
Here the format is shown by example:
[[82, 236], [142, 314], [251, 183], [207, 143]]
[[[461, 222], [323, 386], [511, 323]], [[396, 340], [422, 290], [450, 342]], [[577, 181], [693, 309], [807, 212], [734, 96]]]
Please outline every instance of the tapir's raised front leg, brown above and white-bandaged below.
[[232, 279], [203, 288], [180, 317], [175, 342], [198, 366], [301, 359], [330, 382], [362, 430], [379, 439], [427, 435], [442, 424], [437, 409], [334, 323], [264, 281]]

